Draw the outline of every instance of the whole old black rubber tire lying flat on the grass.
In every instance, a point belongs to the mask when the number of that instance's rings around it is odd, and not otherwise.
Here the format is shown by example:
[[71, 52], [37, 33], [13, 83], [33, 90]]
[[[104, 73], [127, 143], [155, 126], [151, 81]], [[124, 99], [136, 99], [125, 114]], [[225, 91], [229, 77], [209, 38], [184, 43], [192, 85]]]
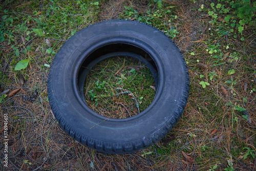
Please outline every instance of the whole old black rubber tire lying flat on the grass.
[[[125, 119], [95, 113], [79, 91], [84, 68], [115, 52], [138, 54], [150, 62], [158, 81], [150, 106]], [[111, 154], [136, 152], [161, 140], [180, 119], [188, 92], [186, 62], [173, 40], [132, 20], [109, 20], [75, 33], [56, 54], [48, 77], [50, 106], [62, 129], [80, 143]]]

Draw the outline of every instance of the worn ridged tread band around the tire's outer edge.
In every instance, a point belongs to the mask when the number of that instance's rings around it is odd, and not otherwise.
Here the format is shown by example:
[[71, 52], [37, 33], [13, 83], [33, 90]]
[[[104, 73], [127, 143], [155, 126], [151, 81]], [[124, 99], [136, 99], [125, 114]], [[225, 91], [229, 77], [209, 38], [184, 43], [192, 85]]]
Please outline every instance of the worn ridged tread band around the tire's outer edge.
[[[124, 19], [121, 19], [121, 20], [124, 20]], [[120, 22], [120, 19], [112, 19], [112, 20], [108, 20], [108, 21], [99, 22], [99, 23], [94, 24], [94, 26], [99, 25], [101, 23], [105, 23], [105, 22], [116, 22], [116, 21]], [[133, 20], [126, 20], [126, 22], [140, 23], [138, 21], [133, 21]], [[141, 24], [147, 25], [145, 23], [141, 23]], [[92, 25], [88, 26], [88, 28], [90, 28], [91, 26]], [[147, 26], [156, 29], [159, 33], [163, 34], [165, 37], [167, 37], [169, 39], [170, 43], [173, 44], [174, 47], [176, 47], [178, 56], [180, 57], [180, 61], [183, 63], [183, 66], [186, 66], [185, 59], [184, 59], [181, 51], [179, 50], [179, 48], [175, 44], [175, 42], [172, 39], [170, 39], [166, 34], [164, 34], [162, 31], [158, 30], [157, 28], [155, 28], [151, 25], [147, 25]], [[77, 33], [84, 32], [84, 31], [86, 31], [86, 29], [82, 29]], [[73, 39], [75, 39], [74, 36], [75, 35], [71, 36], [65, 42], [65, 44], [57, 52], [56, 56], [59, 54], [61, 49], [65, 49], [67, 44], [71, 43], [73, 41]], [[184, 87], [184, 90], [183, 90], [183, 93], [182, 93], [180, 105], [178, 106], [178, 108], [174, 112], [174, 115], [172, 117], [170, 117], [166, 121], [166, 124], [161, 126], [160, 129], [158, 129], [154, 133], [147, 134], [147, 136], [145, 136], [143, 138], [139, 138], [137, 140], [134, 140], [133, 142], [119, 143], [119, 142], [99, 141], [99, 140], [93, 139], [93, 138], [85, 136], [83, 133], [73, 129], [73, 127], [71, 127], [67, 123], [65, 118], [61, 117], [61, 114], [57, 110], [57, 106], [54, 102], [54, 97], [53, 97], [53, 94], [51, 92], [52, 66], [55, 65], [55, 62], [56, 62], [56, 59], [54, 58], [53, 61], [52, 61], [52, 65], [51, 65], [51, 68], [50, 68], [50, 71], [49, 71], [49, 77], [48, 77], [48, 98], [49, 98], [49, 103], [50, 103], [52, 112], [55, 115], [56, 120], [58, 121], [58, 123], [60, 124], [60, 126], [62, 127], [62, 129], [66, 133], [68, 133], [71, 137], [73, 137], [78, 142], [80, 142], [80, 143], [82, 143], [82, 144], [84, 144], [84, 145], [86, 145], [90, 148], [94, 148], [97, 151], [101, 151], [101, 152], [104, 152], [104, 153], [112, 153], [112, 154], [132, 153], [132, 152], [138, 151], [139, 149], [142, 149], [142, 148], [145, 148], [145, 147], [148, 147], [150, 145], [155, 144], [156, 142], [158, 142], [162, 138], [164, 138], [165, 135], [168, 134], [170, 132], [170, 130], [173, 129], [173, 127], [176, 125], [176, 123], [180, 119], [180, 117], [181, 117], [181, 115], [184, 111], [184, 108], [186, 106], [188, 93], [189, 93], [189, 74], [188, 74], [187, 68], [183, 68], [183, 71], [184, 71], [183, 74], [184, 74], [184, 77], [185, 77], [185, 87]]]

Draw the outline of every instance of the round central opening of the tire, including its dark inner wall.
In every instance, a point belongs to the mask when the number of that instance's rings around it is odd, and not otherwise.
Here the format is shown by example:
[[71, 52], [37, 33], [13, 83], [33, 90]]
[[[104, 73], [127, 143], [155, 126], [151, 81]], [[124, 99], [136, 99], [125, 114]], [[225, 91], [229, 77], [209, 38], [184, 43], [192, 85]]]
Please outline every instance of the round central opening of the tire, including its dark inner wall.
[[151, 104], [158, 88], [151, 55], [133, 45], [110, 44], [84, 57], [78, 89], [97, 114], [114, 119], [132, 117]]

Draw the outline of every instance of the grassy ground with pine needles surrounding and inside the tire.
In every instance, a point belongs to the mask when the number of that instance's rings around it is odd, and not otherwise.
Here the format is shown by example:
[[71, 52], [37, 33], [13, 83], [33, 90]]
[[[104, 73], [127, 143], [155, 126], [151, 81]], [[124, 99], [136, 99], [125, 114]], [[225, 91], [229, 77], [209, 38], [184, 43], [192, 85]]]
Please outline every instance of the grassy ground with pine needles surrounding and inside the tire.
[[[255, 169], [255, 2], [248, 2], [2, 2], [1, 91], [22, 87], [12, 97], [1, 95], [1, 120], [8, 114], [8, 169]], [[47, 97], [49, 66], [61, 45], [82, 28], [113, 18], [138, 20], [162, 30], [183, 53], [190, 77], [188, 103], [174, 129], [157, 145], [125, 155], [102, 154], [70, 138], [52, 115]], [[26, 79], [24, 86], [19, 75]], [[151, 103], [150, 86], [154, 80], [143, 63], [115, 57], [93, 68], [84, 94], [93, 110], [107, 108], [107, 117], [124, 118], [138, 113], [129, 94], [134, 94], [140, 112]], [[121, 92], [116, 88], [130, 93], [117, 97]], [[25, 101], [24, 96], [35, 90], [35, 101]], [[4, 142], [4, 126], [0, 135]]]

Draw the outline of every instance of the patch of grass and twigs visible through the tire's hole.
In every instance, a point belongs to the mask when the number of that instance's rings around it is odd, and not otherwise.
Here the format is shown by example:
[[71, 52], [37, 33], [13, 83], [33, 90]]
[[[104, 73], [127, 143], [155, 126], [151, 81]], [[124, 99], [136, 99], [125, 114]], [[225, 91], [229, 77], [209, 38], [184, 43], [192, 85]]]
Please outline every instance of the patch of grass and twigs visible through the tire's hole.
[[84, 99], [99, 115], [128, 118], [144, 111], [155, 97], [155, 80], [139, 59], [115, 56], [98, 62], [84, 81]]

